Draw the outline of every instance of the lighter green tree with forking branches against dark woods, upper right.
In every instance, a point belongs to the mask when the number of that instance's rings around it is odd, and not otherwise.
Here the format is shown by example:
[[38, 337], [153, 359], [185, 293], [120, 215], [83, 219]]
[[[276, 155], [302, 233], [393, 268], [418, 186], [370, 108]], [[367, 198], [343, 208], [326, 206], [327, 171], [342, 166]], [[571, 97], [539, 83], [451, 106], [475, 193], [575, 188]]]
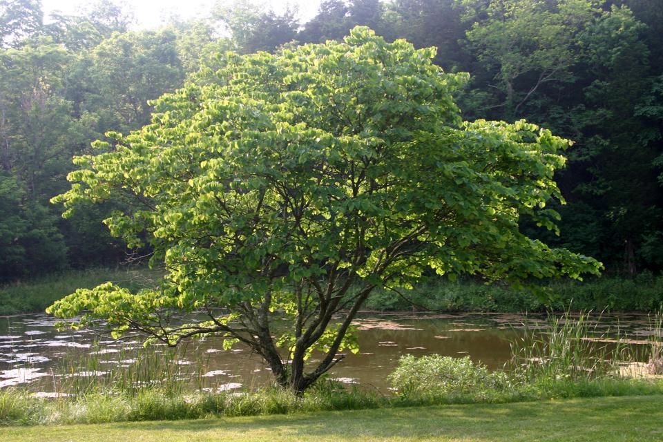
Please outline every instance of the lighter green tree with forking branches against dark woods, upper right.
[[544, 85], [573, 79], [577, 35], [600, 13], [595, 0], [492, 0], [485, 10], [485, 0], [464, 3], [479, 18], [469, 44], [497, 80], [491, 107], [507, 119], [523, 115]]

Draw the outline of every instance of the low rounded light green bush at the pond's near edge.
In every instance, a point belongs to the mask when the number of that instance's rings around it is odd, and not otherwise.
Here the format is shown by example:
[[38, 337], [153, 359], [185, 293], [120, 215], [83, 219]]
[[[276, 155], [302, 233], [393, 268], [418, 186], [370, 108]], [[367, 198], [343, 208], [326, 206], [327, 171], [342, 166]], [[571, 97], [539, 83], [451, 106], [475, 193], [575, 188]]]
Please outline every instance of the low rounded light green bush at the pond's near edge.
[[402, 356], [389, 379], [405, 397], [480, 395], [505, 390], [509, 384], [505, 373], [490, 372], [486, 365], [475, 364], [468, 356], [451, 358], [439, 354]]

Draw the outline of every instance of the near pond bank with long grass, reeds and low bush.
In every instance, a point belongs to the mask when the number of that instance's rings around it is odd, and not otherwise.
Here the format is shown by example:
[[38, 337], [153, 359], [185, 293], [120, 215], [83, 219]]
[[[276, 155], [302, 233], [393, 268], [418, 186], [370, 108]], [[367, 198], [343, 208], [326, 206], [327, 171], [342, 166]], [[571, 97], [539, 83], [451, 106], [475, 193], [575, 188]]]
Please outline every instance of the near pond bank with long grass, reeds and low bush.
[[[55, 367], [50, 379], [44, 378], [59, 392], [55, 398], [32, 394], [43, 391], [39, 387], [0, 390], [0, 425], [182, 420], [663, 395], [663, 314], [658, 313], [651, 320], [649, 345], [637, 348], [627, 345], [622, 335], [598, 328], [599, 324], [586, 314], [550, 316], [548, 322], [512, 341], [512, 358], [504, 370], [492, 372], [469, 357], [403, 356], [388, 376], [393, 391], [329, 380], [319, 381], [301, 396], [278, 387], [229, 391], [241, 385], [208, 383], [202, 374], [204, 361], [182, 365], [177, 349], [170, 353], [171, 350], [148, 346], [135, 349], [136, 354], [119, 351], [115, 353], [118, 363], [108, 367], [102, 367], [98, 354], [93, 352], [64, 361]], [[131, 364], [122, 364], [125, 359]], [[641, 369], [624, 372], [625, 367], [635, 368], [634, 365]], [[93, 375], [75, 376], [81, 369]]]

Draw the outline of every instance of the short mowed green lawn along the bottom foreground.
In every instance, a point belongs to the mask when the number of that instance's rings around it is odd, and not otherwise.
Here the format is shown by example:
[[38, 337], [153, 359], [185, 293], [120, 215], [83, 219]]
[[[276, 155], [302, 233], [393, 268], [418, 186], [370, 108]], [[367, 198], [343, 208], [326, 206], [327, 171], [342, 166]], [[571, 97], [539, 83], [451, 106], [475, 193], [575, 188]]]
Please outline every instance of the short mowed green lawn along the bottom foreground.
[[663, 396], [4, 427], [0, 441], [663, 441]]

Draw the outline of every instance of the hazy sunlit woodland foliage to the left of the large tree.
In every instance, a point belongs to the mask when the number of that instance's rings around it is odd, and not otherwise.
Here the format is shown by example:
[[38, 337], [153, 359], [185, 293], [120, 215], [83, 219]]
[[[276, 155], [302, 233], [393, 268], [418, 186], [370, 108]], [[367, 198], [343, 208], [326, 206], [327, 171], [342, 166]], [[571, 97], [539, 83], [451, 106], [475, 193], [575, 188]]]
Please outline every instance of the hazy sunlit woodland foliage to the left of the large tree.
[[146, 124], [148, 100], [182, 84], [191, 52], [210, 42], [187, 24], [127, 32], [131, 16], [108, 0], [51, 19], [41, 23], [38, 2], [0, 3], [0, 282], [126, 259], [101, 223], [121, 203], [62, 222], [48, 200], [73, 155], [110, 127]]

